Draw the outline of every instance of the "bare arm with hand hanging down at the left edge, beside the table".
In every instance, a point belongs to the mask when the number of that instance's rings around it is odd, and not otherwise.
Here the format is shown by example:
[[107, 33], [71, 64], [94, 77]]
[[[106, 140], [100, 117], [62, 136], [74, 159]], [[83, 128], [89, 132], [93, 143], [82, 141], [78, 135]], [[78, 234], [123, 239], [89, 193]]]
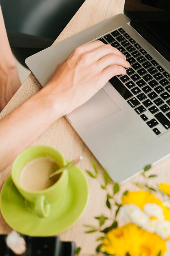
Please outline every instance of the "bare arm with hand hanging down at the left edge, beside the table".
[[15, 59], [9, 46], [0, 8], [0, 111], [20, 87]]

